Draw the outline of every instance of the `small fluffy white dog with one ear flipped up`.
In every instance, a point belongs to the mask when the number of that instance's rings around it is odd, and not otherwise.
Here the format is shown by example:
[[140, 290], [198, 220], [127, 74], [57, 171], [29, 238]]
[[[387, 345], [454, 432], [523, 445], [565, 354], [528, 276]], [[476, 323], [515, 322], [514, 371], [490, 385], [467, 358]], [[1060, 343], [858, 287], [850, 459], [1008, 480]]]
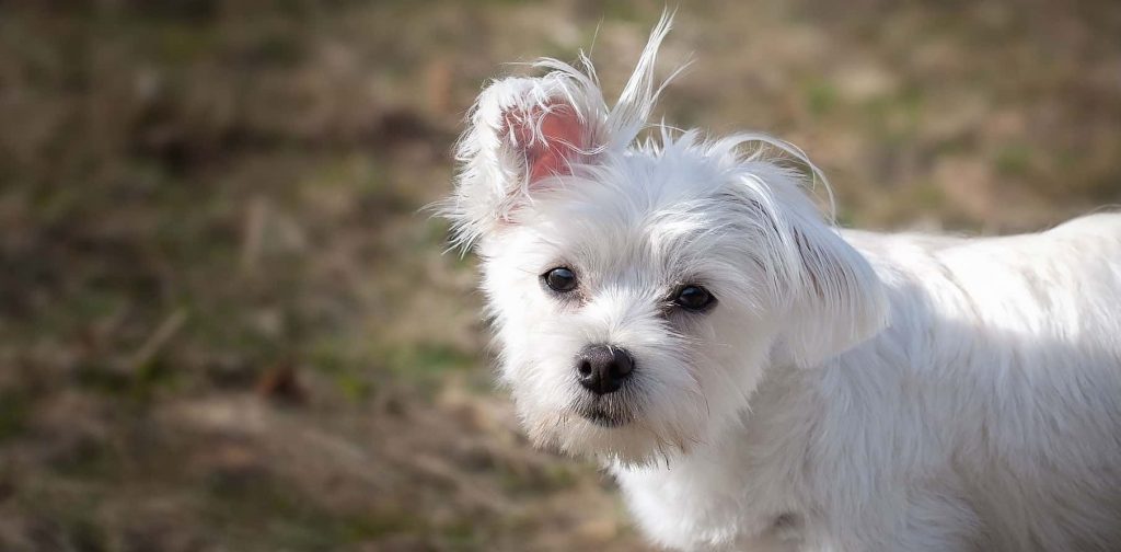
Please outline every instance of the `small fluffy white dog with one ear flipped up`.
[[1121, 550], [1121, 215], [837, 231], [793, 146], [637, 142], [668, 27], [613, 108], [545, 59], [460, 142], [445, 211], [531, 439], [671, 549]]

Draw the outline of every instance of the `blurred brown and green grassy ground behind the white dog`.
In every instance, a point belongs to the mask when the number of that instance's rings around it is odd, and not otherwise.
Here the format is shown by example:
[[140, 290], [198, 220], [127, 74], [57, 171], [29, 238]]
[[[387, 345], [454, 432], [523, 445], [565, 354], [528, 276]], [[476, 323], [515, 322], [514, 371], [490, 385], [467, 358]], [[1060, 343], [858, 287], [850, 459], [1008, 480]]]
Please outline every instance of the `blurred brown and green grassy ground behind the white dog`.
[[[638, 551], [532, 451], [421, 208], [488, 79], [658, 1], [0, 1], [0, 550]], [[1121, 2], [682, 2], [658, 116], [763, 130], [846, 226], [1121, 202]], [[596, 36], [596, 28], [599, 34]]]

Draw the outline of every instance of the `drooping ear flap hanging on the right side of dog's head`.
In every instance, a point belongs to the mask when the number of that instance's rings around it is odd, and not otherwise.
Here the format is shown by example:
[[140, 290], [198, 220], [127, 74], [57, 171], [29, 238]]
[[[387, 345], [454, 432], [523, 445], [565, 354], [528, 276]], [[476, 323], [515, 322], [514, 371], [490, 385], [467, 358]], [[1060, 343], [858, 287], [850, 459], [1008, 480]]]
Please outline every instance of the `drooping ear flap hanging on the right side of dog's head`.
[[882, 330], [888, 301], [868, 259], [836, 230], [817, 220], [789, 222], [800, 277], [782, 342], [790, 361], [809, 367]]

